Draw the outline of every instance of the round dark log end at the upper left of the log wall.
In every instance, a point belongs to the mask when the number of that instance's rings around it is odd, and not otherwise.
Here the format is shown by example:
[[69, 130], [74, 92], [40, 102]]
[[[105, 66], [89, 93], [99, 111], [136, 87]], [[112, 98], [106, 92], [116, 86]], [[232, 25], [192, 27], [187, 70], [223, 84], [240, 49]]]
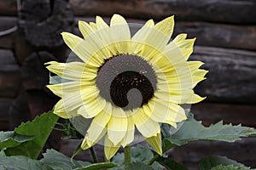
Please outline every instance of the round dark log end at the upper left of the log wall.
[[19, 25], [32, 46], [55, 48], [63, 44], [61, 31], [71, 31], [73, 13], [67, 1], [24, 0]]

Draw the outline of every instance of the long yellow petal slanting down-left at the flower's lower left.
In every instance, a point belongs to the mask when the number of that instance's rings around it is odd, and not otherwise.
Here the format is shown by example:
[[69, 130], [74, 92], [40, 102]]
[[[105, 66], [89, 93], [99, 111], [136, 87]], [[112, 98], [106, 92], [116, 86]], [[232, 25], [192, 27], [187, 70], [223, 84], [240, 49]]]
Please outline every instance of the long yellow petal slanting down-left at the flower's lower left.
[[86, 143], [91, 146], [95, 144], [99, 139], [102, 138], [102, 132], [105, 129], [107, 132], [107, 124], [111, 118], [111, 115], [102, 111], [97, 116], [95, 116], [90, 123], [90, 127], [85, 135]]

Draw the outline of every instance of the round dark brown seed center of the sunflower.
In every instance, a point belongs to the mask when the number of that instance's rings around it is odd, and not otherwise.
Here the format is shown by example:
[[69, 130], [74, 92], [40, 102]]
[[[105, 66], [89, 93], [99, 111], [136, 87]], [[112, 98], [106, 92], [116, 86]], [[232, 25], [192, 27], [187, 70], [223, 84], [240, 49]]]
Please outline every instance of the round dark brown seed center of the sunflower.
[[106, 59], [96, 77], [100, 95], [124, 110], [147, 104], [154, 96], [156, 83], [151, 65], [132, 54], [120, 54]]

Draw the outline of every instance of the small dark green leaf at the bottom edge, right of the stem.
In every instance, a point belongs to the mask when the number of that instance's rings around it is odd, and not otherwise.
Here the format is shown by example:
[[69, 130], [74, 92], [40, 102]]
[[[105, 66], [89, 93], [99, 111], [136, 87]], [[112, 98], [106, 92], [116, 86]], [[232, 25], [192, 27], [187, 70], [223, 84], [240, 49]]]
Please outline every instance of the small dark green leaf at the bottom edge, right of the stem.
[[162, 166], [166, 167], [168, 170], [188, 170], [187, 167], [184, 167], [182, 164], [177, 163], [176, 161], [173, 161], [170, 158], [167, 157], [159, 157], [157, 160]]

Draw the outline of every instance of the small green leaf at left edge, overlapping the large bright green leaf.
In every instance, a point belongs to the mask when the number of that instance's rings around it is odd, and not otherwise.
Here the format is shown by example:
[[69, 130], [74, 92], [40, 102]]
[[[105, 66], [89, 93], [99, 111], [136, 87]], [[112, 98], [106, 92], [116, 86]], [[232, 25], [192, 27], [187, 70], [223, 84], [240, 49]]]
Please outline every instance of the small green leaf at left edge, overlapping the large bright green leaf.
[[0, 132], [0, 150], [20, 145], [23, 142], [34, 139], [33, 136], [24, 136], [13, 131]]

